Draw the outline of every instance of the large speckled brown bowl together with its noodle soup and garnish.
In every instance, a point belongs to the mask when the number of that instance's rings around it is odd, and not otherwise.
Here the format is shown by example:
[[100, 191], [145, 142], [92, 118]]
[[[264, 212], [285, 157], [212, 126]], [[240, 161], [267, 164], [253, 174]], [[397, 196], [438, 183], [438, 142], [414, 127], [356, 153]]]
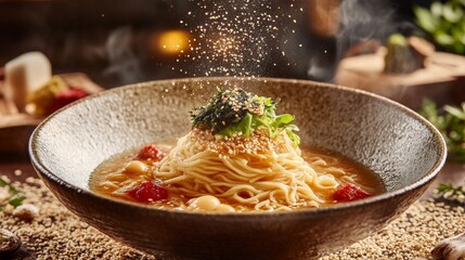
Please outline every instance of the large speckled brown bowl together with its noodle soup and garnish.
[[37, 128], [30, 157], [68, 209], [150, 253], [310, 259], [403, 212], [445, 148], [422, 117], [366, 92], [195, 78], [72, 104]]

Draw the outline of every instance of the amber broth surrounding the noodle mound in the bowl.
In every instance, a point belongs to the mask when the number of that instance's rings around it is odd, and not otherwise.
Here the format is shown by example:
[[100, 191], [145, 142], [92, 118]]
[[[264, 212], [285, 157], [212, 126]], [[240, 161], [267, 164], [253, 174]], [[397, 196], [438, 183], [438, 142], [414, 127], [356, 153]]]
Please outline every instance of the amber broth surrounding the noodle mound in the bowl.
[[[168, 154], [168, 152], [175, 146], [175, 142], [158, 143], [156, 146], [165, 154]], [[134, 188], [144, 181], [156, 180], [157, 178], [154, 177], [153, 172], [156, 171], [158, 162], [140, 160], [146, 166], [145, 170], [133, 170], [128, 172], [127, 166], [130, 161], [134, 160], [140, 148], [129, 150], [103, 161], [91, 174], [89, 181], [90, 188], [99, 194], [112, 198], [140, 203], [129, 196], [128, 191]], [[286, 209], [327, 207], [338, 203], [333, 199], [333, 194], [335, 193], [336, 187], [324, 186], [326, 179], [328, 180], [327, 182], [333, 182], [332, 179], [334, 178], [338, 185], [346, 183], [356, 184], [363, 191], [370, 193], [371, 196], [385, 192], [382, 181], [370, 169], [336, 153], [302, 147], [301, 157], [318, 173], [319, 185], [322, 185], [322, 187], [313, 187], [313, 192], [314, 195], [322, 200], [319, 204], [313, 202], [299, 202], [297, 206], [290, 206]], [[160, 181], [163, 183], [163, 180], [156, 181]], [[176, 185], [168, 184], [166, 188], [169, 192], [168, 198], [150, 202], [147, 204], [163, 209], [192, 211], [189, 207], [190, 199], [192, 202], [195, 196], [186, 196], [186, 194], [182, 192], [182, 188], [179, 188]], [[245, 194], [244, 196], [246, 199], [249, 195]], [[233, 207], [236, 212], [257, 211], [257, 207], [254, 204], [238, 203], [224, 197], [218, 198], [221, 204]], [[260, 208], [258, 211], [280, 209], [282, 208], [264, 208], [264, 210]]]

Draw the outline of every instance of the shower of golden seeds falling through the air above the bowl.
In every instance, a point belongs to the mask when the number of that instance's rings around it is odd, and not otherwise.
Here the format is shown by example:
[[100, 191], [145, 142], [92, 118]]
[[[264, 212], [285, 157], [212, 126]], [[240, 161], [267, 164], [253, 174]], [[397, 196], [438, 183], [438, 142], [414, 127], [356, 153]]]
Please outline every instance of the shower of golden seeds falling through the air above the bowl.
[[184, 20], [180, 21], [180, 26], [194, 36], [190, 40], [191, 53], [181, 55], [180, 62], [199, 62], [199, 66], [190, 68], [192, 72], [181, 72], [194, 77], [263, 76], [273, 53], [284, 53], [281, 48], [286, 42], [282, 37], [295, 32], [297, 17], [302, 13], [298, 4], [279, 1], [193, 2], [195, 10], [190, 10], [188, 16], [197, 24], [188, 26]]

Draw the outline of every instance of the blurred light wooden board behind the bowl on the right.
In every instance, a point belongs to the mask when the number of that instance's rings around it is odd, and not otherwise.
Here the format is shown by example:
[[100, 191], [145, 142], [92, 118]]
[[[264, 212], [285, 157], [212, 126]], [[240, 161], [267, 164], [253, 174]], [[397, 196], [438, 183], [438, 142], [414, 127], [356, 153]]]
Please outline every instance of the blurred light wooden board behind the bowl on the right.
[[384, 74], [382, 49], [375, 54], [344, 58], [336, 72], [337, 84], [366, 90], [417, 109], [424, 98], [438, 104], [465, 101], [465, 57], [436, 52], [426, 67], [411, 74]]

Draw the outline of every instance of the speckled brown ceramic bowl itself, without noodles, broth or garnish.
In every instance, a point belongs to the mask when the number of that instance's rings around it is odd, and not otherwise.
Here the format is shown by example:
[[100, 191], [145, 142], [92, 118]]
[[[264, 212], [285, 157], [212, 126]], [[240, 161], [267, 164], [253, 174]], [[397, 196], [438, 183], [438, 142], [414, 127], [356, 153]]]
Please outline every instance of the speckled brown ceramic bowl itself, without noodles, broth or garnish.
[[86, 99], [38, 128], [33, 162], [57, 198], [102, 232], [164, 257], [193, 259], [309, 259], [348, 245], [405, 210], [443, 164], [440, 134], [391, 102], [311, 81], [228, 79], [281, 98], [280, 112], [296, 116], [303, 144], [370, 167], [393, 195], [325, 210], [216, 216], [157, 210], [88, 192], [89, 176], [104, 159], [185, 134], [189, 110], [224, 83], [155, 81]]

